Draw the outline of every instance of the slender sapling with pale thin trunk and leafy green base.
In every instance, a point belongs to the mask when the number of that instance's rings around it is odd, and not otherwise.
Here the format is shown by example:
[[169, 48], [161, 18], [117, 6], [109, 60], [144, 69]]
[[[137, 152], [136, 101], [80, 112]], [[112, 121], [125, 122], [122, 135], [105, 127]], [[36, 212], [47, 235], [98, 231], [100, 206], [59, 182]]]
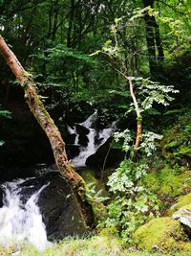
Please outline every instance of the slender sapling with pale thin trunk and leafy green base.
[[[140, 15], [135, 15], [130, 18], [126, 26], [130, 26], [139, 17]], [[115, 70], [127, 85], [132, 101], [126, 114], [135, 111], [137, 116], [136, 135], [132, 136], [128, 128], [115, 133], [116, 141], [123, 140], [122, 150], [126, 152], [126, 156], [117, 170], [109, 176], [109, 190], [115, 198], [108, 205], [108, 219], [105, 221], [106, 226], [117, 227], [123, 240], [130, 243], [131, 236], [139, 225], [159, 215], [158, 198], [144, 186], [142, 179], [149, 171], [149, 158], [156, 151], [155, 141], [162, 136], [143, 129], [142, 113], [153, 108], [154, 103], [169, 105], [173, 100], [172, 93], [178, 93], [178, 90], [172, 85], [161, 85], [158, 81], [140, 77], [137, 70], [127, 65], [128, 56], [123, 55], [124, 49], [117, 39], [121, 29], [120, 21], [121, 19], [115, 19], [115, 24], [112, 25], [113, 40], [108, 40], [102, 50], [95, 54], [104, 54], [112, 60]], [[111, 93], [117, 93], [117, 90]], [[138, 152], [141, 156], [139, 158]]]

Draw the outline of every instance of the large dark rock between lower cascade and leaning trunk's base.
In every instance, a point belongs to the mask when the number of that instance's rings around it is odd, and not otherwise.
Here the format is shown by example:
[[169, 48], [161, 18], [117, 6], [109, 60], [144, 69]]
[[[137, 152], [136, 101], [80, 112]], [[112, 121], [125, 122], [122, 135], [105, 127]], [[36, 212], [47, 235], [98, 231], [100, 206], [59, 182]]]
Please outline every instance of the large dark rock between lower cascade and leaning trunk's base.
[[51, 173], [46, 175], [46, 182], [50, 185], [42, 191], [38, 204], [48, 239], [57, 241], [68, 235], [87, 234], [88, 229], [80, 216], [74, 195], [64, 179]]

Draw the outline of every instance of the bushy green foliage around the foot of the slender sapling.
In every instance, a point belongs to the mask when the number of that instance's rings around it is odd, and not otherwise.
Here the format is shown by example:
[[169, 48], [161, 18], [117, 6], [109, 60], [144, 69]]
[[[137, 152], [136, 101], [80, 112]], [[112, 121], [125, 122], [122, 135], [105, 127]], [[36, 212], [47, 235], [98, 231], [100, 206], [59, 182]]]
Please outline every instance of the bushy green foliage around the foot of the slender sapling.
[[158, 215], [157, 198], [146, 188], [141, 179], [148, 165], [123, 160], [117, 171], [109, 177], [108, 186], [116, 196], [108, 206], [107, 226], [117, 227], [121, 238], [131, 243], [138, 226]]

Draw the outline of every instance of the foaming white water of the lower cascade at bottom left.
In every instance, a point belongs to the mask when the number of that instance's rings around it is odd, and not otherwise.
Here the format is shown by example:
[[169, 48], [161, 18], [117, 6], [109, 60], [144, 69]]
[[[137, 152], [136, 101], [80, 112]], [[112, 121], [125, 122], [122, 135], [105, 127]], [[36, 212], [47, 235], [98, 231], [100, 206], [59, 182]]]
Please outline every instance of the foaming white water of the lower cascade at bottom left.
[[26, 241], [39, 250], [48, 245], [45, 225], [37, 206], [40, 193], [48, 186], [44, 185], [24, 204], [19, 187], [27, 179], [18, 179], [4, 183], [3, 207], [0, 208], [0, 244], [9, 246], [12, 243]]

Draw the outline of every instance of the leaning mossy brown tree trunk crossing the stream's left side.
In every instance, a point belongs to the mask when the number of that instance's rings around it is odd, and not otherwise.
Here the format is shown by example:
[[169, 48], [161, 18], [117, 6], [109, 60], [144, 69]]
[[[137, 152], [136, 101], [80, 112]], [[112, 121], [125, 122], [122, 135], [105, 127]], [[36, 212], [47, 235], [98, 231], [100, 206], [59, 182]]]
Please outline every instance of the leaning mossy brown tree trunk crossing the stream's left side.
[[65, 143], [58, 128], [55, 126], [53, 119], [47, 112], [45, 106], [40, 100], [39, 95], [37, 94], [37, 88], [32, 79], [32, 75], [24, 70], [21, 63], [11, 52], [11, 49], [8, 47], [1, 35], [0, 53], [6, 59], [14, 76], [24, 89], [25, 99], [32, 111], [33, 116], [49, 138], [57, 168], [74, 193], [74, 198], [76, 199], [82, 219], [86, 225], [90, 225], [93, 219], [91, 216], [92, 212], [90, 214], [90, 207], [85, 200], [84, 180], [80, 175], [75, 173], [74, 167], [68, 160], [65, 151]]

